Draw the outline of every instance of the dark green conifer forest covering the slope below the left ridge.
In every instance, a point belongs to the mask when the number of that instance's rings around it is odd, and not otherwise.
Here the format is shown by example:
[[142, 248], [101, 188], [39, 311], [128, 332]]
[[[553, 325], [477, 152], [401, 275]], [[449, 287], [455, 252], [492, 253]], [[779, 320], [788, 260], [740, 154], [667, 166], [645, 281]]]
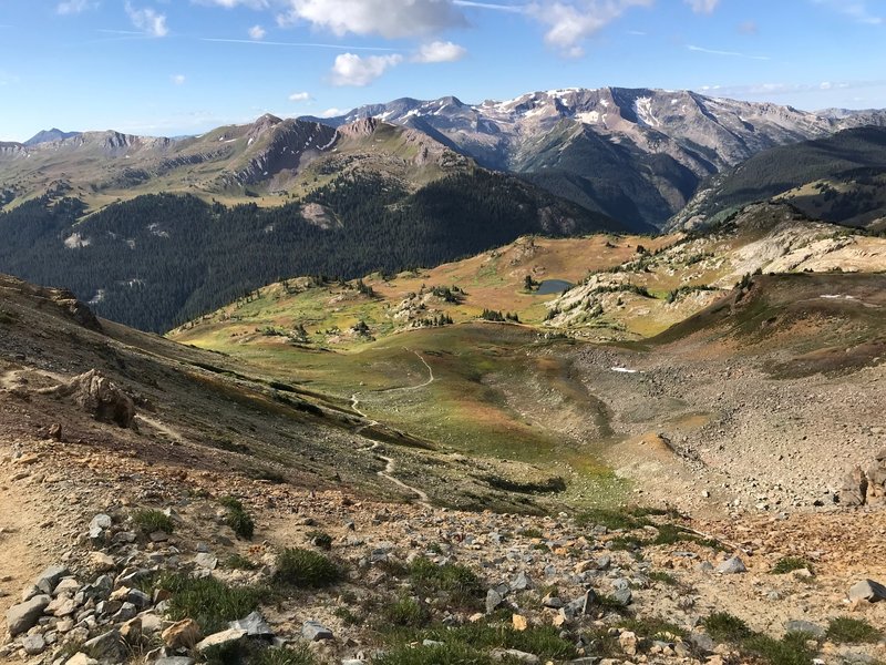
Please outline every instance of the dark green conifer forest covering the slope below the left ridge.
[[306, 203], [225, 207], [146, 195], [85, 215], [75, 198], [42, 197], [0, 214], [0, 272], [66, 287], [105, 318], [165, 331], [255, 288], [299, 275], [346, 279], [434, 266], [528, 233], [574, 235], [615, 222], [516, 178], [475, 172], [409, 194], [378, 176], [340, 177]]

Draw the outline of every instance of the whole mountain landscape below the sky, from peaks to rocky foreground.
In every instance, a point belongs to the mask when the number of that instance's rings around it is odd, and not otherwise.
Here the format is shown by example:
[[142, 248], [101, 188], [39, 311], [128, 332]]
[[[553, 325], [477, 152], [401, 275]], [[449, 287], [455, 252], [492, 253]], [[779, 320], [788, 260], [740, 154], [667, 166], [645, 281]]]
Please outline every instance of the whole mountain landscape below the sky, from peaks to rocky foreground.
[[884, 125], [0, 144], [0, 662], [883, 663]]

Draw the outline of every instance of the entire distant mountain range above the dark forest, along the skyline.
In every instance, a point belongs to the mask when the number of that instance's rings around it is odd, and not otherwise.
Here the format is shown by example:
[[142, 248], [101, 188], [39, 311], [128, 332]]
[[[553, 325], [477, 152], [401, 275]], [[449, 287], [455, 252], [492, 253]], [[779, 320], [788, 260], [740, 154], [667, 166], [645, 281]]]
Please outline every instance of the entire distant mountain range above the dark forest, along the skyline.
[[661, 227], [708, 180], [767, 149], [872, 125], [886, 125], [886, 112], [810, 113], [689, 91], [566, 89], [481, 104], [404, 98], [336, 117], [265, 115], [184, 139], [50, 130], [0, 143], [0, 194], [56, 188], [93, 209], [156, 192], [280, 205], [353, 170], [354, 160], [385, 171], [391, 155], [374, 157], [392, 149], [401, 164], [385, 176], [412, 190], [468, 160], [639, 231]]

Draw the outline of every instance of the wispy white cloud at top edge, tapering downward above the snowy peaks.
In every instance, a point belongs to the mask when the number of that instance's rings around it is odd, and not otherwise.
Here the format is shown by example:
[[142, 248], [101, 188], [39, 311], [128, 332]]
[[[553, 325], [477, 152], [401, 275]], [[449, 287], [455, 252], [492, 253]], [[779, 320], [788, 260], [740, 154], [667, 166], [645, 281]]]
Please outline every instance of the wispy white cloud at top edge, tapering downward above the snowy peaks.
[[649, 7], [655, 0], [537, 0], [527, 12], [548, 25], [545, 42], [564, 55], [584, 54], [581, 42], [618, 19], [631, 7]]

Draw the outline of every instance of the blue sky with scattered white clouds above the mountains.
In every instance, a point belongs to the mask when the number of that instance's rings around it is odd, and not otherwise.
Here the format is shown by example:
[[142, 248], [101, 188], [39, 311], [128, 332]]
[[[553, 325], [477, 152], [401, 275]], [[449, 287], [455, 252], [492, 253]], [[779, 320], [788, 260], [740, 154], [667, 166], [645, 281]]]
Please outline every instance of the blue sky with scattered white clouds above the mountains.
[[886, 0], [0, 0], [0, 140], [555, 88], [886, 106]]

